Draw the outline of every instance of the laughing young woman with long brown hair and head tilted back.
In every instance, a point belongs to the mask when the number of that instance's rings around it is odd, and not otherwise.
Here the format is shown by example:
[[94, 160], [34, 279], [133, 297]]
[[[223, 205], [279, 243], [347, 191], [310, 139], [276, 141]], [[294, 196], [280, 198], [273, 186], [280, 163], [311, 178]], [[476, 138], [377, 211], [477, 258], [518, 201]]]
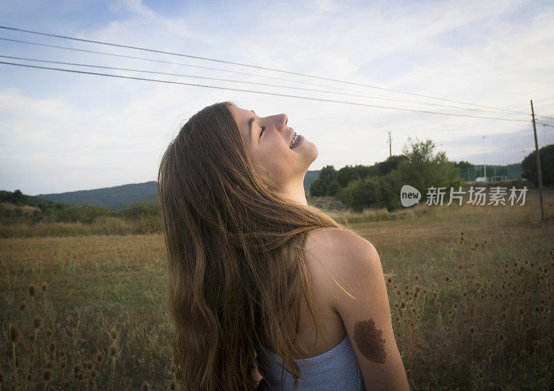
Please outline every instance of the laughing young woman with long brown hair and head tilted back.
[[379, 255], [307, 205], [318, 150], [287, 123], [216, 103], [161, 159], [177, 379], [187, 390], [406, 390]]

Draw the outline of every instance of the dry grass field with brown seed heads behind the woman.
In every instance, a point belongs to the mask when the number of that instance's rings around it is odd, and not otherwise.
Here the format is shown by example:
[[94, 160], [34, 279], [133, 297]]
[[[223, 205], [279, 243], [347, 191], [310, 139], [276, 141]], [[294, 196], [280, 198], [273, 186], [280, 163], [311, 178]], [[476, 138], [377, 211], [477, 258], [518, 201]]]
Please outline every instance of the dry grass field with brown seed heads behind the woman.
[[[553, 387], [554, 191], [545, 195], [546, 224], [535, 190], [524, 206], [350, 216], [396, 273], [391, 314], [413, 390]], [[44, 229], [0, 238], [0, 387], [175, 387], [161, 234]]]

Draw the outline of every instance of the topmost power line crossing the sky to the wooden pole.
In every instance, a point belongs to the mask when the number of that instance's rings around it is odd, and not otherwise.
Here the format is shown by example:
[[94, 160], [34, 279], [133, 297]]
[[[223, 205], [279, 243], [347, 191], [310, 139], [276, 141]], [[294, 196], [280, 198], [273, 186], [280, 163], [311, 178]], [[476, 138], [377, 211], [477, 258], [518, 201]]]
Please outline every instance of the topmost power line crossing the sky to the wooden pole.
[[346, 83], [346, 84], [349, 84], [349, 85], [358, 85], [358, 86], [361, 86], [361, 87], [368, 87], [368, 88], [374, 88], [374, 89], [382, 89], [382, 90], [384, 90], [384, 91], [396, 92], [396, 93], [398, 93], [398, 94], [408, 94], [408, 95], [413, 95], [413, 96], [420, 96], [420, 97], [423, 97], [423, 98], [438, 99], [439, 101], [447, 101], [447, 102], [459, 103], [459, 104], [463, 104], [463, 105], [472, 105], [472, 106], [476, 106], [476, 107], [485, 107], [485, 108], [488, 108], [488, 109], [500, 110], [500, 111], [504, 111], [504, 112], [512, 112], [512, 113], [517, 113], [517, 114], [526, 114], [526, 115], [528, 115], [528, 113], [526, 113], [526, 112], [517, 112], [517, 111], [515, 111], [515, 110], [507, 110], [507, 109], [502, 109], [502, 108], [499, 108], [499, 107], [491, 107], [491, 106], [485, 106], [485, 105], [476, 105], [475, 103], [467, 103], [467, 102], [461, 102], [461, 101], [454, 101], [454, 100], [452, 100], [452, 99], [446, 99], [446, 98], [437, 98], [437, 97], [435, 97], [435, 96], [429, 96], [429, 95], [423, 95], [423, 94], [415, 94], [415, 93], [413, 93], [413, 92], [403, 92], [403, 91], [400, 91], [400, 90], [397, 90], [397, 89], [389, 89], [389, 88], [384, 88], [384, 87], [377, 87], [377, 86], [374, 86], [374, 85], [366, 85], [366, 84], [361, 84], [361, 83], [357, 83], [357, 82], [348, 82], [348, 81], [346, 81], [346, 80], [339, 80], [339, 79], [333, 79], [333, 78], [324, 78], [324, 77], [321, 77], [321, 76], [309, 75], [309, 74], [307, 74], [307, 73], [298, 73], [298, 72], [292, 72], [292, 71], [284, 71], [284, 70], [282, 70], [282, 69], [273, 69], [273, 68], [267, 68], [267, 67], [260, 67], [260, 66], [257, 66], [257, 65], [243, 64], [243, 63], [240, 63], [240, 62], [231, 62], [231, 61], [226, 61], [226, 60], [217, 60], [217, 59], [214, 59], [214, 58], [199, 57], [199, 56], [195, 56], [195, 55], [188, 55], [188, 54], [183, 54], [183, 53], [175, 53], [175, 52], [170, 52], [170, 51], [159, 51], [159, 50], [156, 50], [156, 49], [141, 48], [141, 47], [138, 47], [138, 46], [129, 46], [129, 45], [122, 45], [122, 44], [114, 44], [114, 43], [111, 43], [111, 42], [102, 42], [102, 41], [94, 41], [94, 40], [84, 40], [84, 39], [82, 39], [82, 38], [69, 37], [69, 36], [67, 36], [67, 35], [57, 35], [57, 34], [50, 34], [50, 33], [42, 33], [42, 32], [39, 32], [39, 31], [24, 30], [23, 28], [14, 28], [14, 27], [8, 27], [8, 26], [0, 26], [0, 28], [3, 28], [3, 29], [5, 29], [5, 30], [10, 30], [10, 31], [20, 31], [20, 32], [24, 32], [24, 33], [30, 33], [30, 34], [36, 34], [36, 35], [44, 35], [44, 36], [48, 36], [48, 37], [57, 37], [57, 38], [65, 39], [65, 40], [74, 40], [74, 41], [80, 41], [80, 42], [89, 42], [89, 43], [93, 43], [93, 44], [102, 44], [102, 45], [107, 45], [107, 46], [116, 46], [116, 47], [120, 47], [120, 48], [134, 49], [134, 50], [140, 50], [140, 51], [148, 51], [148, 52], [152, 52], [152, 53], [161, 53], [161, 54], [168, 54], [168, 55], [177, 55], [177, 56], [180, 56], [180, 57], [194, 58], [194, 59], [197, 59], [197, 60], [206, 60], [206, 61], [222, 62], [222, 63], [225, 63], [225, 64], [239, 65], [239, 66], [241, 66], [241, 67], [251, 67], [251, 68], [256, 68], [256, 69], [264, 69], [264, 70], [267, 70], [267, 71], [275, 71], [275, 72], [281, 72], [281, 73], [288, 73], [288, 74], [296, 75], [296, 76], [304, 76], [304, 77], [307, 77], [307, 78], [317, 78], [317, 79], [321, 79], [321, 80], [329, 80], [329, 81], [334, 81], [334, 82], [342, 82], [342, 83]]

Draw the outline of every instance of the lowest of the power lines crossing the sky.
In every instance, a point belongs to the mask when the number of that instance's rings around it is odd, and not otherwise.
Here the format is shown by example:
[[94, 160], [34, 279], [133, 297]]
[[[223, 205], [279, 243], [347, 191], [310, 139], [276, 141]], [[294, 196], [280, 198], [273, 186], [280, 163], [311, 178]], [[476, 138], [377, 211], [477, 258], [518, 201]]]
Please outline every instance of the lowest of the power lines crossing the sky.
[[238, 92], [251, 92], [254, 94], [265, 94], [265, 95], [274, 95], [274, 96], [285, 96], [288, 98], [300, 98], [300, 99], [307, 99], [310, 101], [321, 101], [321, 102], [332, 102], [332, 103], [343, 103], [346, 105], [357, 105], [357, 106], [365, 106], [365, 107], [376, 107], [380, 109], [390, 109], [390, 110], [402, 110], [406, 112], [419, 112], [419, 113], [425, 113], [425, 114], [440, 114], [440, 115], [447, 115], [447, 116], [466, 116], [470, 118], [480, 118], [480, 119], [497, 119], [499, 121], [515, 121], [515, 122], [529, 122], [529, 120], [526, 119], [507, 119], [507, 118], [497, 118], [497, 117], [490, 117], [490, 116], [474, 116], [474, 115], [468, 115], [468, 114], [454, 114], [454, 113], [443, 113], [443, 112], [429, 112], [425, 110], [413, 110], [413, 109], [404, 109], [402, 107], [389, 107], [389, 106], [379, 106], [379, 105], [369, 105], [367, 103], [356, 103], [356, 102], [348, 102], [348, 101], [335, 101], [332, 99], [323, 99], [323, 98], [312, 98], [307, 96], [296, 96], [296, 95], [287, 95], [287, 94], [276, 94], [274, 92], [262, 92], [262, 91], [253, 91], [249, 89], [237, 89], [237, 88], [230, 88], [230, 87], [217, 87], [213, 85], [199, 85], [199, 84], [193, 84], [188, 82], [175, 82], [171, 80], [158, 80], [158, 79], [148, 79], [148, 78], [137, 78], [134, 76], [122, 76], [122, 75], [111, 75], [109, 73], [96, 73], [96, 72], [87, 72], [87, 71], [76, 71], [73, 69], [62, 69], [62, 68], [51, 68], [51, 67], [39, 67], [37, 65], [30, 65], [30, 64], [17, 64], [15, 62], [5, 62], [0, 61], [0, 64], [8, 64], [8, 65], [16, 65], [17, 67], [28, 67], [28, 68], [35, 68], [35, 69], [51, 69], [53, 71], [65, 71], [65, 72], [71, 72], [71, 73], [82, 73], [82, 74], [88, 74], [88, 75], [96, 75], [96, 76], [108, 76], [112, 78], [125, 78], [125, 79], [132, 79], [132, 80], [145, 80], [145, 81], [152, 81], [152, 82], [164, 82], [168, 84], [175, 84], [175, 85], [190, 85], [193, 87], [205, 87], [205, 88], [214, 88], [214, 89], [226, 89], [229, 91], [238, 91]]

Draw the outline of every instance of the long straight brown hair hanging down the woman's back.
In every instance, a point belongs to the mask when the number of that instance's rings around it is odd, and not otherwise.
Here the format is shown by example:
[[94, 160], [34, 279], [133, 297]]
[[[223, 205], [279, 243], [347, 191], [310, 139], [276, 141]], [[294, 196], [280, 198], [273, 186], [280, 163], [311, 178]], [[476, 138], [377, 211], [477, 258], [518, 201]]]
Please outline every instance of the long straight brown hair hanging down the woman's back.
[[191, 390], [253, 390], [256, 345], [283, 357], [296, 383], [302, 299], [322, 329], [304, 262], [307, 232], [351, 229], [270, 190], [231, 105], [191, 116], [158, 173], [176, 376]]

